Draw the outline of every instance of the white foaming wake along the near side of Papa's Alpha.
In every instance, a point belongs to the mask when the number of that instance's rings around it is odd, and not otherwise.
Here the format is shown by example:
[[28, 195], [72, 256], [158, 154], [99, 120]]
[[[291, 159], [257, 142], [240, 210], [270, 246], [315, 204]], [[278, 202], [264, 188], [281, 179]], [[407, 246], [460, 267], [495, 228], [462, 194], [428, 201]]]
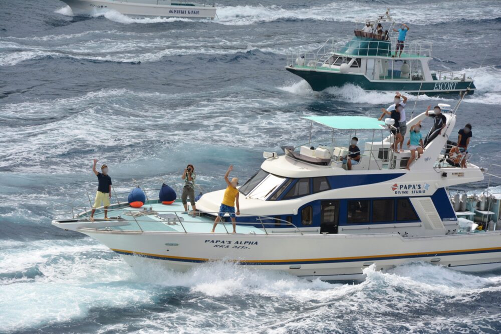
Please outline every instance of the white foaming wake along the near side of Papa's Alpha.
[[[455, 331], [464, 325], [474, 330], [501, 320], [498, 314], [475, 312], [448, 316], [451, 308], [488, 300], [489, 293], [499, 291], [501, 276], [464, 274], [421, 262], [386, 273], [371, 266], [364, 269], [367, 278], [361, 283], [332, 284], [227, 262], [182, 273], [138, 261], [131, 270], [89, 238], [40, 240], [28, 246], [5, 242], [1, 256], [0, 331], [43, 330], [76, 319], [82, 325], [110, 312], [119, 312], [128, 326], [133, 316], [138, 327], [194, 332], [200, 323], [212, 328], [209, 332], [325, 331], [332, 326], [342, 332], [353, 329], [353, 322], [333, 314], [353, 309], [360, 319], [355, 329], [361, 332]], [[151, 312], [135, 315], [137, 307]], [[208, 311], [214, 307], [217, 317]], [[104, 324], [101, 329], [116, 326]]]

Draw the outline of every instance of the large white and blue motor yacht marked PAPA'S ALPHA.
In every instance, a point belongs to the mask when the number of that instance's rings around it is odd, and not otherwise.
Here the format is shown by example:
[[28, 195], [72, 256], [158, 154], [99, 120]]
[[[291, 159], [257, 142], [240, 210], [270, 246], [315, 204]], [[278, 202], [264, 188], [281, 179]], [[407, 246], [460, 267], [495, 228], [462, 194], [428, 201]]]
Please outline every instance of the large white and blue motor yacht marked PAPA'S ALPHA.
[[[416, 260], [462, 271], [499, 268], [499, 226], [478, 230], [473, 221], [458, 218], [449, 199], [449, 186], [481, 181], [485, 169], [449, 163], [456, 115], [444, 114], [442, 134], [429, 140], [410, 170], [410, 152], [390, 148], [391, 125], [363, 116], [306, 117], [331, 128], [332, 137], [286, 147], [284, 155], [265, 152], [261, 169], [239, 187], [236, 234], [229, 233], [228, 222], [210, 233], [224, 190], [203, 194], [196, 216], [181, 212], [180, 202], [162, 205], [150, 193], [143, 208], [111, 205], [108, 221], [102, 212], [89, 221], [87, 202], [77, 209], [81, 213], [71, 209], [69, 218], [52, 224], [99, 240], [132, 266], [148, 261], [188, 270], [229, 260], [325, 280], [358, 279], [372, 264], [387, 270]], [[407, 127], [425, 118], [423, 112]], [[360, 137], [362, 153], [347, 170], [343, 156], [350, 131]], [[362, 139], [364, 131], [370, 133]], [[495, 215], [484, 207], [469, 209], [475, 221], [480, 214], [499, 218], [499, 207]]]

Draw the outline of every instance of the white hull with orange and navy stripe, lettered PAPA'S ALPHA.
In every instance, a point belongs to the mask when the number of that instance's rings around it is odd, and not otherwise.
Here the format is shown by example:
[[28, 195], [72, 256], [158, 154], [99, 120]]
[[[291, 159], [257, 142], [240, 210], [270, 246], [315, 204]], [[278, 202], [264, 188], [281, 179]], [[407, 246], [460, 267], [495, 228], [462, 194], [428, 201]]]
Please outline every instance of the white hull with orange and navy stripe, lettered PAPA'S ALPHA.
[[397, 233], [249, 235], [89, 228], [78, 231], [96, 238], [133, 267], [146, 261], [179, 271], [207, 261], [227, 260], [308, 279], [346, 280], [362, 279], [362, 270], [372, 264], [378, 270], [412, 261], [475, 272], [501, 267], [499, 232], [402, 237]]

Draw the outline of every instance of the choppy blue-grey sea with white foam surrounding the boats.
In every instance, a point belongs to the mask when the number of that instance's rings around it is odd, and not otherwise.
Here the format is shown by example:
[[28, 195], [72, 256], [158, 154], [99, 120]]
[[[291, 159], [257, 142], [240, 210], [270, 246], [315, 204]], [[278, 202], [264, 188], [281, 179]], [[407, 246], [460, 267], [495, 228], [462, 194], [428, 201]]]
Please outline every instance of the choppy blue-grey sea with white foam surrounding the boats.
[[[501, 156], [498, 1], [217, 1], [218, 18], [73, 16], [61, 1], [0, 0], [0, 332], [470, 333], [501, 331], [501, 272], [414, 262], [364, 282], [307, 281], [231, 263], [132, 271], [98, 242], [50, 224], [54, 206], [94, 191], [92, 159], [117, 191], [241, 179], [263, 150], [308, 140], [305, 115], [379, 115], [392, 93], [314, 93], [287, 52], [347, 37], [382, 13], [433, 41], [430, 67], [466, 72], [458, 111], [472, 161]], [[457, 96], [410, 97], [407, 113]], [[315, 136], [325, 129], [314, 128]], [[491, 168], [501, 173], [501, 170]], [[499, 186], [497, 180], [492, 185]], [[487, 180], [461, 189], [482, 191]]]

